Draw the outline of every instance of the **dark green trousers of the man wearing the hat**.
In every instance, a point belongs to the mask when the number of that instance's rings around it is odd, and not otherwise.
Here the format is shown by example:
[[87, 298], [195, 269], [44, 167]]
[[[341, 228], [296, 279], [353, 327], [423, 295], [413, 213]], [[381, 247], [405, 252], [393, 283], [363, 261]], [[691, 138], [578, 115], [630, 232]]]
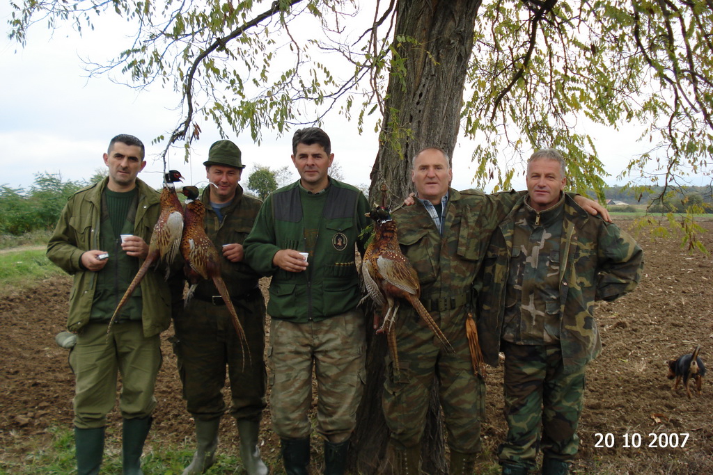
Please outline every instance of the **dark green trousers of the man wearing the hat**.
[[255, 289], [245, 298], [235, 299], [234, 305], [245, 331], [245, 348], [225, 306], [193, 298], [188, 307], [174, 315], [173, 352], [186, 409], [195, 419], [212, 420], [225, 412], [222, 389], [226, 367], [233, 417], [259, 421], [267, 405], [265, 301]]

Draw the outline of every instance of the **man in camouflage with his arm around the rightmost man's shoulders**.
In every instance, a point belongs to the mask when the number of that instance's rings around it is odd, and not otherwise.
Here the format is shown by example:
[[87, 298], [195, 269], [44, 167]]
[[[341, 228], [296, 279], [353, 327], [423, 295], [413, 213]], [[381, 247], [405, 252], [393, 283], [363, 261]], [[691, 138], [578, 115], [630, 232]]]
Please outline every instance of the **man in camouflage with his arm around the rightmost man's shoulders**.
[[[411, 172], [419, 202], [394, 212], [399, 244], [419, 276], [421, 302], [455, 350], [453, 354], [443, 350], [416, 311], [401, 305], [396, 323], [399, 375], [394, 374], [389, 362], [383, 395], [398, 473], [417, 473], [435, 377], [441, 385], [439, 399], [451, 452], [449, 473], [471, 473], [481, 450], [485, 385], [473, 370], [466, 320], [473, 310], [473, 279], [481, 268], [491, 234], [524, 193], [457, 192], [448, 186], [452, 177], [443, 150], [421, 150], [414, 157]], [[593, 212], [604, 211], [589, 199], [576, 199]]]

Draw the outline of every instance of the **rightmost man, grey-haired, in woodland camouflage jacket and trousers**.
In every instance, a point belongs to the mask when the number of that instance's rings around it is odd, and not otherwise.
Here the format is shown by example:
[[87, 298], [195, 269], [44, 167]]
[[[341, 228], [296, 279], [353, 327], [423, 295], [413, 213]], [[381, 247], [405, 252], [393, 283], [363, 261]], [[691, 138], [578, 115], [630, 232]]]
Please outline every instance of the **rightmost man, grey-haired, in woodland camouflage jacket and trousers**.
[[556, 150], [530, 157], [527, 183], [528, 196], [493, 234], [476, 279], [478, 334], [488, 364], [498, 364], [500, 350], [506, 357], [503, 474], [534, 469], [538, 442], [542, 473], [566, 474], [578, 449], [585, 365], [602, 348], [594, 303], [637, 286], [642, 250], [563, 193]]

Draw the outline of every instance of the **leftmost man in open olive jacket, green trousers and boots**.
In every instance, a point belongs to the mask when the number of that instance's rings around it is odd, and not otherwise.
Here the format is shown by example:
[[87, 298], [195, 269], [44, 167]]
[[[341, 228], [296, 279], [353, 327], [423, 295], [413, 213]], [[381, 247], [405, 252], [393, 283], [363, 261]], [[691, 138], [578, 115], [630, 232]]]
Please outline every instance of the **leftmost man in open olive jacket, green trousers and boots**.
[[[80, 475], [99, 473], [106, 414], [116, 402], [117, 371], [122, 380], [124, 474], [142, 473], [140, 456], [156, 405], [159, 333], [170, 323], [170, 293], [162, 273], [146, 274], [107, 335], [114, 309], [148, 254], [160, 214], [160, 195], [137, 178], [146, 166], [144, 154], [138, 138], [114, 137], [103, 155], [109, 176], [69, 197], [47, 245], [48, 258], [74, 276], [67, 328], [77, 335], [69, 363], [76, 377]], [[122, 234], [130, 236], [121, 239]]]

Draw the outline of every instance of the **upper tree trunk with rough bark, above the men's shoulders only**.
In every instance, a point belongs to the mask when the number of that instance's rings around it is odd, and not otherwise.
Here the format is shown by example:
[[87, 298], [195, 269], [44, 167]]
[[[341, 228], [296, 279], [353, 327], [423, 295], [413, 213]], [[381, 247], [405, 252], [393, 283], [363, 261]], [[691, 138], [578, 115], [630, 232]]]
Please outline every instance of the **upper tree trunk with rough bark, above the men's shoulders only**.
[[[424, 147], [453, 155], [461, 125], [463, 88], [473, 51], [480, 0], [399, 0], [394, 48], [404, 72], [392, 66], [386, 88], [379, 152], [371, 171], [371, 200], [399, 204], [413, 190], [411, 158]], [[399, 61], [399, 58], [396, 58]]]

